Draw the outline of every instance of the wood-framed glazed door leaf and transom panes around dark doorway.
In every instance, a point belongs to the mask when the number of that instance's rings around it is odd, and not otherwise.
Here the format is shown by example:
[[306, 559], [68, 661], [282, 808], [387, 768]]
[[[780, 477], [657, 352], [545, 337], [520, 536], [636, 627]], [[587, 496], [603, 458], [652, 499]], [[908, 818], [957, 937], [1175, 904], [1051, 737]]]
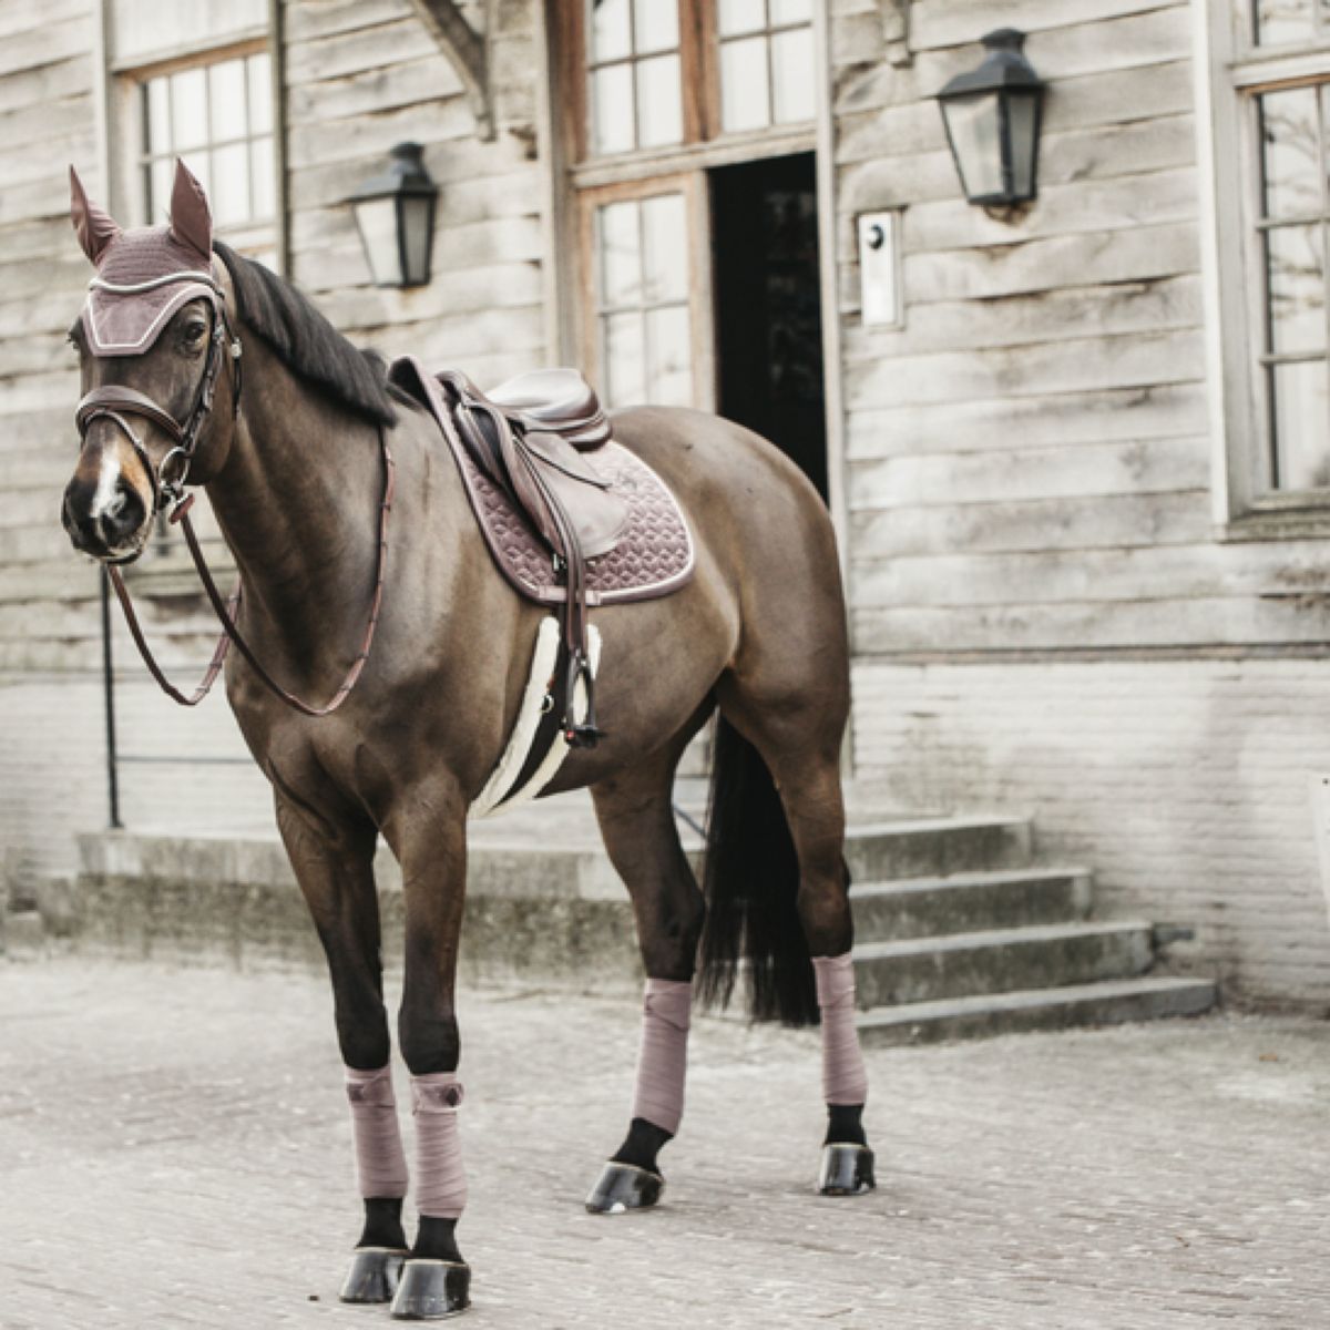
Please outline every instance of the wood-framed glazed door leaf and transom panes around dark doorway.
[[815, 146], [813, 0], [548, 0], [581, 356], [614, 406], [714, 407], [706, 172]]

